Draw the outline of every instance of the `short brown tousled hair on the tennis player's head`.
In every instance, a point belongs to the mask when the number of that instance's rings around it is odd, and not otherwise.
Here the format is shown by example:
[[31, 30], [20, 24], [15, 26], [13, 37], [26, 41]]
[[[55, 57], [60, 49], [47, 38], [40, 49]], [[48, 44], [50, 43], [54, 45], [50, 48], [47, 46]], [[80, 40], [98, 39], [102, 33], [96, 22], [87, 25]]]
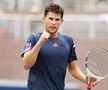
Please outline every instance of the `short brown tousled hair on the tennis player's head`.
[[45, 8], [45, 11], [44, 11], [44, 16], [45, 17], [48, 15], [48, 12], [61, 14], [61, 19], [63, 18], [64, 10], [59, 4], [50, 3]]

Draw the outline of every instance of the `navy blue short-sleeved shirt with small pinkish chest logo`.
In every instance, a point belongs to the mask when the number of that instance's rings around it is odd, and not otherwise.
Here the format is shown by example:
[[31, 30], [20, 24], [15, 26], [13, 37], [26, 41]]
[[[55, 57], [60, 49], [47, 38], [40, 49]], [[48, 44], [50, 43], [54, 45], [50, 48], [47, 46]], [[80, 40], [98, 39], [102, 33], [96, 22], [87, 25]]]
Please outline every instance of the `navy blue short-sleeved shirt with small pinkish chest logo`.
[[[31, 50], [42, 33], [31, 34], [25, 42], [24, 53]], [[29, 90], [64, 90], [68, 63], [77, 60], [73, 39], [59, 34], [49, 38], [41, 47], [35, 64], [29, 70]]]

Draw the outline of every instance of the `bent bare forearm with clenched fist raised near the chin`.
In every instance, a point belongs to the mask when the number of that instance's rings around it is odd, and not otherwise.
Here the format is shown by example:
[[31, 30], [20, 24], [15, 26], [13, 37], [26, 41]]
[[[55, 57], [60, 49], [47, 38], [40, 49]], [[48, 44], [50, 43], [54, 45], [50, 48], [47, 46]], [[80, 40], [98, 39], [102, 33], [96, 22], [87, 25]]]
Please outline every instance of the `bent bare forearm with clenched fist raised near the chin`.
[[48, 32], [43, 32], [35, 46], [30, 51], [27, 51], [24, 54], [22, 58], [22, 65], [26, 70], [30, 69], [34, 65], [37, 60], [41, 46], [49, 38], [49, 36], [50, 34]]

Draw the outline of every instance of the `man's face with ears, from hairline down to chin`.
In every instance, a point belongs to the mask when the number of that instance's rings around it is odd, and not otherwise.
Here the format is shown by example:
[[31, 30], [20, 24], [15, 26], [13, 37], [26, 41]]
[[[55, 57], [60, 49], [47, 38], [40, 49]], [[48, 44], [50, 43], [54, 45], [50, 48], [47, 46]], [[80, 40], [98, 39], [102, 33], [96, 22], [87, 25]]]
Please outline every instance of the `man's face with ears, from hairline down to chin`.
[[62, 23], [61, 14], [49, 12], [48, 15], [43, 17], [43, 22], [45, 24], [45, 30], [50, 34], [55, 34], [59, 26]]

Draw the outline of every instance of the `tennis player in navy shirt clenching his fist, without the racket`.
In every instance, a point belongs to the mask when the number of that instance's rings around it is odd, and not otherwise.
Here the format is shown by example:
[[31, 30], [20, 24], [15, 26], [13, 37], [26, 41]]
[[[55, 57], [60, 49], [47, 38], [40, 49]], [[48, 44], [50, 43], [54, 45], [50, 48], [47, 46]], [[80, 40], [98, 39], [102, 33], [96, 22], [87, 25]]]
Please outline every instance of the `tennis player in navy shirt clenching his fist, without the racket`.
[[42, 17], [45, 30], [28, 37], [22, 53], [22, 65], [28, 70], [29, 90], [64, 90], [66, 68], [76, 79], [87, 78], [76, 64], [75, 45], [71, 37], [58, 32], [64, 10], [49, 4]]

